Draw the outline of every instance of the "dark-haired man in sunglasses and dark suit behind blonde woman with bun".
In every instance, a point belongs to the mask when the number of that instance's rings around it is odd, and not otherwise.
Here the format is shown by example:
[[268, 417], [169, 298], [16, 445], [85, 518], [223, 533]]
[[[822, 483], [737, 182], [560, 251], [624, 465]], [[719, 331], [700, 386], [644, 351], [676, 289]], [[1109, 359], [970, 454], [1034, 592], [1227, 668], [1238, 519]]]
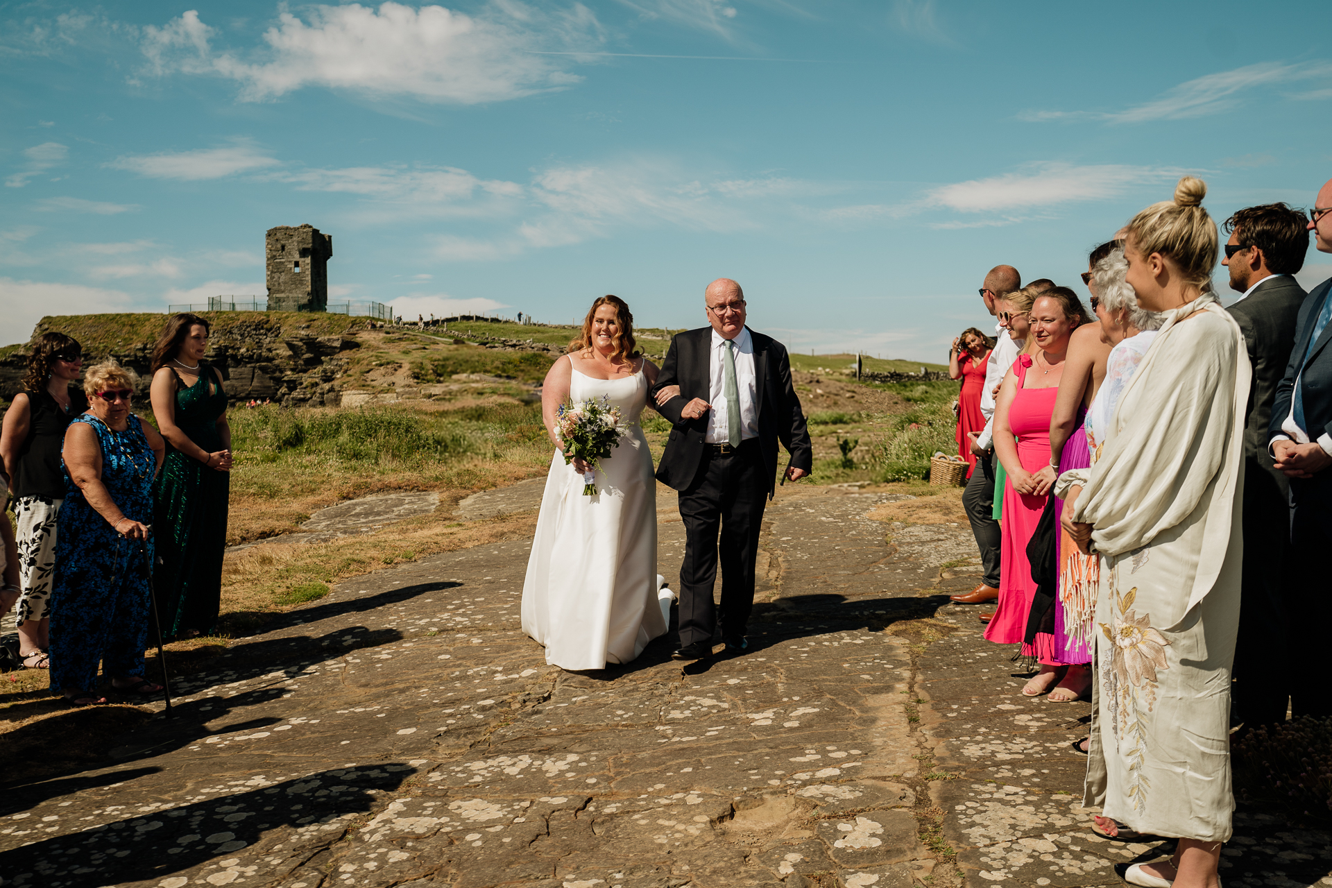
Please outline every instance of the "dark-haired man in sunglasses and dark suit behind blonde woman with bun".
[[1253, 367], [1244, 423], [1244, 574], [1233, 666], [1236, 715], [1245, 727], [1285, 720], [1288, 686], [1272, 680], [1272, 662], [1289, 644], [1283, 604], [1289, 482], [1273, 467], [1268, 426], [1307, 296], [1291, 276], [1304, 266], [1308, 224], [1297, 209], [1265, 204], [1239, 210], [1224, 225], [1231, 237], [1221, 264], [1229, 268], [1231, 289], [1243, 293], [1229, 313]]

